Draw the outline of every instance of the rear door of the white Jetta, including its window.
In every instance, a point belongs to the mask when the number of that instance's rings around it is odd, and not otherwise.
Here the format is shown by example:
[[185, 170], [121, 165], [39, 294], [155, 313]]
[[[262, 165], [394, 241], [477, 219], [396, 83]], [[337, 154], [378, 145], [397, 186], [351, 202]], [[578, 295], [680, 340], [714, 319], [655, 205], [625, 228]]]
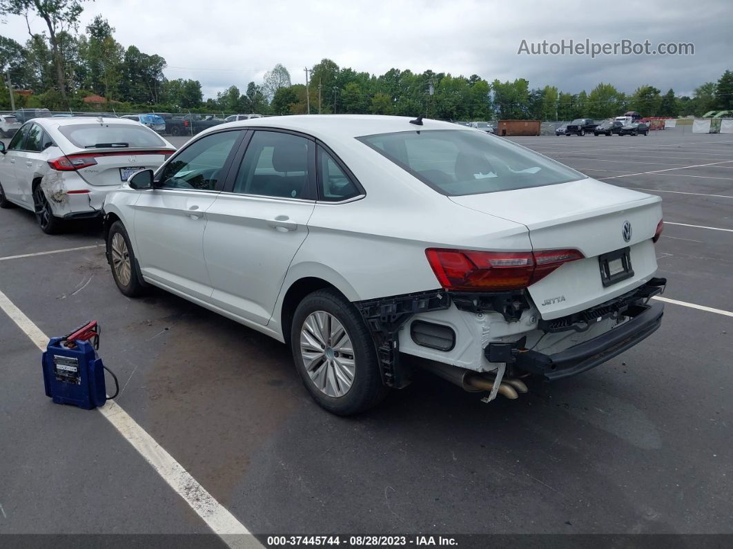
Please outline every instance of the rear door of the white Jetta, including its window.
[[312, 139], [271, 130], [250, 134], [235, 177], [206, 213], [212, 303], [254, 323], [269, 322], [308, 235], [315, 180]]

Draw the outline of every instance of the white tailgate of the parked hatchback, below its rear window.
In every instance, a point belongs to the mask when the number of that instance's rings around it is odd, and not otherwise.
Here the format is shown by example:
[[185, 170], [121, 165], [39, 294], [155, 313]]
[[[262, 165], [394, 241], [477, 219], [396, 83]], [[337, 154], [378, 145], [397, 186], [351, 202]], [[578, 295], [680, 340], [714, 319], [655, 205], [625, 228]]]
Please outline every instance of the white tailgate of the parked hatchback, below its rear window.
[[121, 185], [128, 177], [141, 169], [158, 169], [174, 150], [168, 149], [89, 149], [86, 152], [67, 155], [70, 158], [91, 157], [96, 162], [76, 171], [89, 185]]

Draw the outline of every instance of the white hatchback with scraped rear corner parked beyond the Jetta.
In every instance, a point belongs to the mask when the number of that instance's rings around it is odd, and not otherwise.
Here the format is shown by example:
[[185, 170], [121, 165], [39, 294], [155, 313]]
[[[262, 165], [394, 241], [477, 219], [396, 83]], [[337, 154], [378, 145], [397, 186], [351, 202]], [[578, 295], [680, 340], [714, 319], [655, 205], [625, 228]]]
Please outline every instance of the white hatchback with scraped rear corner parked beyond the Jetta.
[[53, 234], [70, 218], [101, 215], [104, 197], [131, 174], [158, 168], [175, 147], [132, 120], [35, 118], [0, 143], [0, 207], [36, 213]]

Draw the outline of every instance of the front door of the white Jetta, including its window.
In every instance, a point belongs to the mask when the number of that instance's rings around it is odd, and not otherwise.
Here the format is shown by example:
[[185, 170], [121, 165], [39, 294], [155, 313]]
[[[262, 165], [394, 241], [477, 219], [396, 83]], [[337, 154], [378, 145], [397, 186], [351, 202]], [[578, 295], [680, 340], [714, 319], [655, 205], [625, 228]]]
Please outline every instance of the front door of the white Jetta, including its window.
[[171, 159], [133, 205], [136, 254], [144, 276], [208, 301], [203, 238], [207, 210], [224, 185], [241, 130], [197, 139]]

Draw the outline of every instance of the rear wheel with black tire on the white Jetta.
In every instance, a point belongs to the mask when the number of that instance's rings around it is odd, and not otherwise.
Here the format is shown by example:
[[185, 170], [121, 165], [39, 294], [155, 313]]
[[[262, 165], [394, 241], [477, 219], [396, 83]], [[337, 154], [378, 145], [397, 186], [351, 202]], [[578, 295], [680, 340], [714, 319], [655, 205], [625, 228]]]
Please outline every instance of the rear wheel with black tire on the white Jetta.
[[[335, 343], [329, 339], [334, 334]], [[350, 416], [364, 412], [388, 392], [364, 319], [336, 290], [318, 290], [298, 304], [290, 348], [295, 369], [311, 397], [331, 413]]]

